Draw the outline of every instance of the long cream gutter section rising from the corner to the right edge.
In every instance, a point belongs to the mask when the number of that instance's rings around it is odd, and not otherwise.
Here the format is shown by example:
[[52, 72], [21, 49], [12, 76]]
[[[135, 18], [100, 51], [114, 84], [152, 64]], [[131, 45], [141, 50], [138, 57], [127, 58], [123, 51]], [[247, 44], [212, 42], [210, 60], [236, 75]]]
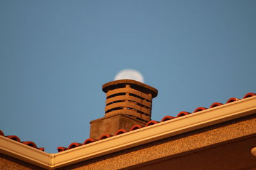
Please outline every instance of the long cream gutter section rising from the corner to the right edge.
[[55, 153], [55, 167], [67, 166], [93, 157], [117, 152], [126, 148], [149, 143], [158, 139], [175, 136], [209, 125], [256, 113], [256, 96], [209, 108], [198, 113], [179, 117], [160, 124], [150, 125], [118, 136], [79, 146], [72, 150]]

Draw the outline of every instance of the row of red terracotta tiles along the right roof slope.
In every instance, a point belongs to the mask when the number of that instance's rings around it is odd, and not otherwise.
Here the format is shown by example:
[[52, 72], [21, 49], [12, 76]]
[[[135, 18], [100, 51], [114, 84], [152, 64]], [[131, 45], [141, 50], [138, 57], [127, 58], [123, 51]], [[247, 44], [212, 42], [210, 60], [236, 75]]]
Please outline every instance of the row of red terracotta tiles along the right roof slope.
[[[252, 96], [256, 96], [256, 94], [255, 94], [255, 93], [248, 93], [248, 94], [246, 94], [246, 95], [243, 97], [243, 99], [245, 99], [245, 98], [247, 98], [247, 97], [252, 97]], [[240, 100], [240, 99], [238, 99], [238, 98], [236, 98], [236, 97], [232, 97], [232, 98], [228, 99], [227, 103], [232, 103], [232, 102], [238, 101], [238, 100]], [[226, 103], [226, 104], [227, 104], [227, 103]], [[212, 103], [211, 106], [210, 106], [210, 108], [218, 107], [218, 106], [221, 106], [221, 105], [223, 105], [223, 103]], [[193, 113], [196, 113], [196, 112], [199, 112], [199, 111], [203, 111], [203, 110], [207, 110], [207, 108], [204, 108], [204, 107], [196, 108], [196, 110], [195, 110]], [[192, 113], [192, 114], [193, 114], [193, 113]], [[189, 115], [189, 114], [191, 114], [191, 113], [188, 112], [188, 111], [180, 111], [180, 113], [177, 115], [177, 117], [184, 117], [184, 116]], [[165, 116], [165, 117], [162, 118], [161, 122], [168, 121], [168, 120], [172, 120], [173, 118], [177, 118], [177, 117], [172, 117], [172, 116], [168, 116], [168, 115], [167, 115], [167, 116]], [[156, 120], [150, 120], [150, 121], [145, 125], [145, 127], [147, 127], [147, 126], [149, 126], [149, 125], [158, 124], [158, 123], [161, 123], [161, 122], [158, 122], [158, 121], [156, 121]], [[143, 127], [142, 127], [141, 125], [138, 125], [138, 124], [137, 124], [137, 125], [133, 125], [133, 126], [131, 127], [130, 131], [135, 131], [136, 129], [140, 129], [140, 128], [143, 128]], [[116, 132], [115, 136], [118, 135], [118, 134], [123, 134], [123, 133], [125, 133], [125, 132], [127, 132], [127, 131], [125, 131], [125, 129], [119, 129], [119, 130]], [[0, 134], [1, 134], [1, 131], [0, 131]], [[111, 134], [103, 134], [103, 135], [100, 137], [99, 140], [106, 139], [106, 138], [110, 138], [111, 136], [112, 136]], [[86, 139], [86, 140], [84, 141], [83, 145], [86, 145], [86, 144], [88, 144], [88, 143], [93, 143], [93, 142], [95, 142], [95, 141], [97, 141], [97, 139], [89, 138], [89, 139]], [[76, 145], [76, 146], [81, 146], [82, 144], [81, 144], [81, 143], [72, 143], [72, 144], [70, 144], [70, 146], [71, 146], [71, 145], [74, 145], [74, 146], [75, 146], [75, 145]], [[70, 146], [68, 146], [68, 148], [58, 147], [58, 152], [62, 152], [62, 151], [64, 151], [64, 150], [74, 148], [74, 147], [70, 147]]]

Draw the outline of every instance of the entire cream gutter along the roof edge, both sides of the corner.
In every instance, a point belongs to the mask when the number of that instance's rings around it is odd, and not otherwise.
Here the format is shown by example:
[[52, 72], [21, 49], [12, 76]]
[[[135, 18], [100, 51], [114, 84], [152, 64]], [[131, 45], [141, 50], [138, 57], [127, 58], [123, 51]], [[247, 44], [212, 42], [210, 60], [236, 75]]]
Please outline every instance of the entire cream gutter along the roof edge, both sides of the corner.
[[[6, 155], [11, 155], [22, 160], [29, 159], [31, 163], [38, 166], [47, 166], [49, 169], [55, 169], [209, 125], [252, 115], [253, 113], [256, 113], [256, 96], [143, 127], [136, 131], [126, 132], [60, 153], [41, 152], [40, 150], [2, 136], [0, 136], [0, 150]], [[2, 139], [6, 140], [3, 141]], [[17, 149], [15, 149], [12, 148], [14, 145], [11, 146], [8, 143], [16, 143], [16, 145], [20, 146], [17, 146]]]

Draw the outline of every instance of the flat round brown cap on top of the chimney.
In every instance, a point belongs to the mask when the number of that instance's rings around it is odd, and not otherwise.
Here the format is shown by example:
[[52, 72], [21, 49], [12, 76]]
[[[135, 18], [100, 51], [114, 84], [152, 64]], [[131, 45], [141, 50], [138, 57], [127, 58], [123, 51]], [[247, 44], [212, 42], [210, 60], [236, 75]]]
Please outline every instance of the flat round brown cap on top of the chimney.
[[129, 80], [129, 79], [115, 80], [115, 81], [110, 81], [108, 83], [105, 83], [104, 85], [102, 85], [102, 91], [106, 93], [108, 92], [108, 90], [116, 89], [116, 86], [122, 85], [122, 84], [134, 85], [138, 87], [138, 89], [140, 89], [141, 91], [147, 92], [148, 94], [152, 94], [152, 97], [156, 97], [158, 93], [158, 90], [155, 89], [154, 87], [141, 83], [140, 81]]

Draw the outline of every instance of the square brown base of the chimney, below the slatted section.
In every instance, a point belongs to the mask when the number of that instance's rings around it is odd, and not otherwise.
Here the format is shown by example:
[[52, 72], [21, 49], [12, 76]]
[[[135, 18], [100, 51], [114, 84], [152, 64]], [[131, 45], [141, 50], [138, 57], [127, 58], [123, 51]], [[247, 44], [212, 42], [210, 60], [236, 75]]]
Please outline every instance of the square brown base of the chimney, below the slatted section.
[[90, 138], [99, 139], [103, 134], [115, 135], [119, 129], [129, 131], [132, 126], [138, 124], [145, 126], [146, 122], [138, 120], [136, 117], [117, 113], [109, 117], [98, 118], [90, 122]]

